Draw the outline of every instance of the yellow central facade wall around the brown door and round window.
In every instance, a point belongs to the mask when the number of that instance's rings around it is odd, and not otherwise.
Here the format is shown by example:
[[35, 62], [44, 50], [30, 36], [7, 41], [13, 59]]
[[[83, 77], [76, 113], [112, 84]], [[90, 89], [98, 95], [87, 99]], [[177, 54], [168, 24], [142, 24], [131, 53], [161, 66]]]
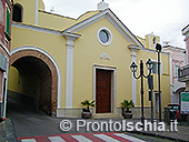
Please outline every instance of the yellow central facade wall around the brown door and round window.
[[[97, 38], [101, 27], [108, 28], [113, 37], [108, 47], [100, 44]], [[102, 19], [79, 31], [81, 38], [74, 44], [73, 63], [73, 106], [80, 106], [83, 99], [93, 100], [93, 65], [117, 68], [117, 105], [123, 99], [131, 100], [130, 50], [129, 42], [107, 20]], [[110, 60], [102, 60], [100, 55], [108, 53]], [[128, 55], [127, 55], [128, 54]]]

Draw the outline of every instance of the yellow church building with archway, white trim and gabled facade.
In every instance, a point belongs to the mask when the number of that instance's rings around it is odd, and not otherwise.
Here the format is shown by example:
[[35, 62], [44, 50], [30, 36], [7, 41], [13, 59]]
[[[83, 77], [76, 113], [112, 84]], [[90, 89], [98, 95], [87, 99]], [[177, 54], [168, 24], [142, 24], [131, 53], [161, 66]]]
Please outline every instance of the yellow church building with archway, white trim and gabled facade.
[[[98, 10], [72, 19], [46, 12], [42, 0], [13, 0], [12, 20], [8, 97], [63, 118], [80, 118], [84, 99], [96, 100], [94, 118], [120, 116], [126, 99], [133, 101], [133, 116], [139, 118], [141, 84], [130, 64], [151, 59], [158, 114], [159, 37], [136, 37], [103, 1]], [[170, 103], [169, 73], [169, 54], [162, 52], [161, 108]], [[148, 91], [145, 80], [146, 118], [150, 116]]]

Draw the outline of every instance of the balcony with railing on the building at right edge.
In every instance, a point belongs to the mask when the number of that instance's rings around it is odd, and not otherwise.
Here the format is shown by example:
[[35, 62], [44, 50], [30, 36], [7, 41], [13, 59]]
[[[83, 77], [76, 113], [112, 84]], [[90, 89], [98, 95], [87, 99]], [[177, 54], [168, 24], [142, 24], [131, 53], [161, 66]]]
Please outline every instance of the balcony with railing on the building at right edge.
[[178, 78], [179, 81], [182, 81], [182, 82], [189, 81], [189, 64], [181, 67], [178, 70], [178, 75], [179, 75]]

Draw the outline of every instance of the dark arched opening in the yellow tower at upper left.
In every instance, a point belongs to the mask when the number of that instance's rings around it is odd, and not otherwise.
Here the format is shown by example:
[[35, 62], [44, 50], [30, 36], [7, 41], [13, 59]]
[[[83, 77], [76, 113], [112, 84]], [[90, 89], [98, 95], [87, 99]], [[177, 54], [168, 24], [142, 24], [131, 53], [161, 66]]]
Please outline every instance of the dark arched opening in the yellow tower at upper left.
[[19, 3], [13, 4], [12, 21], [22, 22], [22, 12], [23, 12], [23, 8], [21, 4]]

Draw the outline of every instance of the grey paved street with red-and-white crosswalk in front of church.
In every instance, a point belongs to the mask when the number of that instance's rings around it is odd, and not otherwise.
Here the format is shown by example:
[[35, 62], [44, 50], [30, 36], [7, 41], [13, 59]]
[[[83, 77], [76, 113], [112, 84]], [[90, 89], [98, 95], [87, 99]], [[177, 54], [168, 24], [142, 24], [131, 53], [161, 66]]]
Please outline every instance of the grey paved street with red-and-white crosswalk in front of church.
[[[14, 124], [14, 131], [18, 140], [21, 142], [64, 142], [64, 141], [131, 141], [131, 139], [137, 138], [138, 141], [148, 141], [148, 142], [168, 142], [170, 140], [163, 140], [157, 138], [157, 135], [171, 136], [175, 139], [182, 139], [185, 141], [189, 140], [188, 131], [189, 126], [178, 125], [178, 132], [148, 132], [153, 135], [141, 135], [137, 133], [118, 133], [118, 132], [107, 132], [107, 131], [97, 131], [94, 133], [91, 129], [89, 131], [86, 128], [80, 128], [79, 131], [76, 129], [78, 119], [63, 119], [63, 118], [51, 118], [46, 115], [43, 112], [29, 108], [24, 104], [18, 103], [14, 100], [9, 99], [8, 104], [8, 116], [11, 118]], [[60, 122], [62, 120], [69, 120], [72, 123], [72, 129], [67, 131], [60, 130]], [[109, 119], [98, 119], [98, 120], [86, 120], [87, 122], [108, 122]], [[113, 119], [112, 121], [120, 122], [122, 120]], [[127, 120], [128, 121], [128, 120]], [[139, 120], [129, 120], [132, 122], [138, 122]], [[147, 133], [147, 132], [146, 132]], [[28, 140], [30, 139], [30, 140]], [[81, 139], [81, 140], [79, 140]], [[59, 140], [59, 141], [58, 141]], [[105, 140], [103, 140], [105, 141]], [[136, 139], [135, 139], [136, 141]]]

